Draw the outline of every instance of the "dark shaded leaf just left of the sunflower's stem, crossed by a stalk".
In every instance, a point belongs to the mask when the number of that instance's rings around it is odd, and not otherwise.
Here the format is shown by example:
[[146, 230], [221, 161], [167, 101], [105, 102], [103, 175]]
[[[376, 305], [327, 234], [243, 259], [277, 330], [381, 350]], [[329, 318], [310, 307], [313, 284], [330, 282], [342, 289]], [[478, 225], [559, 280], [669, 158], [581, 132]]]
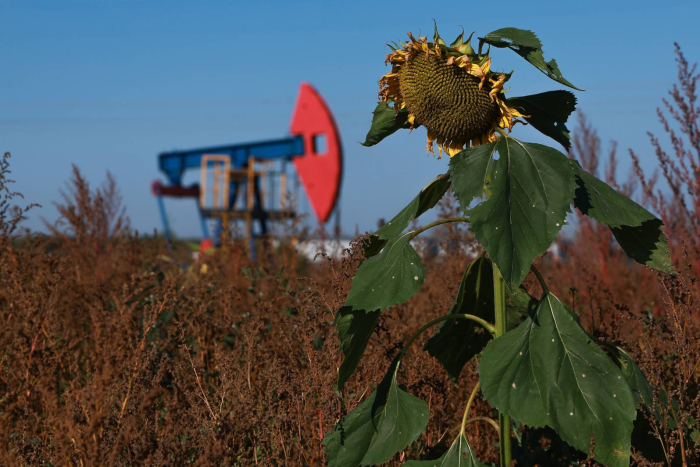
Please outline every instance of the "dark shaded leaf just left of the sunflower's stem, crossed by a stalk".
[[[493, 269], [491, 261], [480, 256], [469, 264], [459, 292], [448, 314], [472, 314], [493, 323]], [[457, 384], [464, 365], [479, 354], [491, 334], [472, 320], [445, 321], [425, 344]]]

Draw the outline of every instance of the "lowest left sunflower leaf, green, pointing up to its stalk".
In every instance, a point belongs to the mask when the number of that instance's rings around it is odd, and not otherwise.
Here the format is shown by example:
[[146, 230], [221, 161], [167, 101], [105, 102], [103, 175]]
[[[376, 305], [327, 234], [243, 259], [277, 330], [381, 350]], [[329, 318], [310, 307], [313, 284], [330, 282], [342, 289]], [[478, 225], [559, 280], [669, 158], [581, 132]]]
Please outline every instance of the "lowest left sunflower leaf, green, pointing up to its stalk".
[[382, 464], [425, 431], [428, 404], [399, 387], [398, 365], [395, 359], [377, 390], [326, 435], [330, 467]]

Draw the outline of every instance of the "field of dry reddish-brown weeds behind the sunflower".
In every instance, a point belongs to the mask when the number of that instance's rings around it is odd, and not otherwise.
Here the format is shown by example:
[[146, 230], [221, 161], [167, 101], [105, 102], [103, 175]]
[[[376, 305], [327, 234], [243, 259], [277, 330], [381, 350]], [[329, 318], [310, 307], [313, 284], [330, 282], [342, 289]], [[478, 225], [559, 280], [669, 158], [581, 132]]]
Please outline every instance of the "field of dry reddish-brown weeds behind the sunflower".
[[[628, 177], [615, 170], [628, 155], [581, 116], [572, 156], [664, 220], [679, 274], [632, 263], [609, 229], [576, 214], [561, 254], [537, 263], [588, 332], [633, 350], [654, 388], [658, 413], [637, 417], [635, 465], [700, 463], [700, 108], [697, 71], [680, 49], [677, 61], [659, 110], [666, 131], [630, 153]], [[657, 172], [644, 173], [639, 159], [654, 156]], [[78, 169], [57, 203], [60, 223], [28, 233], [16, 206], [31, 193], [12, 193], [10, 162], [0, 166], [1, 465], [323, 465], [324, 434], [419, 323], [450, 308], [470, 259], [455, 246], [473, 243], [468, 231], [435, 234], [447, 254], [422, 252], [424, 286], [383, 315], [343, 400], [333, 390], [342, 358], [333, 320], [362, 238], [342, 260], [312, 263], [261, 241], [255, 259], [230, 242], [192, 262], [182, 245], [131, 229], [113, 180], [94, 188]], [[449, 217], [457, 204], [448, 196], [440, 208]], [[539, 287], [531, 277], [525, 285]], [[444, 451], [463, 410], [454, 401], [476, 380], [463, 371], [455, 386], [420, 346], [412, 354], [399, 379], [432, 415], [395, 465]], [[488, 407], [477, 399], [475, 415], [491, 416]], [[480, 459], [498, 459], [489, 425], [469, 436], [480, 439]], [[516, 444], [518, 465], [595, 465], [548, 430]]]

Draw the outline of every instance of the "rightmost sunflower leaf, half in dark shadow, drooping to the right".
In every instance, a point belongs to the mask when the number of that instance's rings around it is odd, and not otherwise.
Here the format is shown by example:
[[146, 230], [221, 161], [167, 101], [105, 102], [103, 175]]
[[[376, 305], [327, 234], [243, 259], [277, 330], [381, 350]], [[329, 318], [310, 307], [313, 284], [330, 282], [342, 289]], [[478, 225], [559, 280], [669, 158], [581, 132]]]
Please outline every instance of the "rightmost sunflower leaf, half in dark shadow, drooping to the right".
[[640, 264], [673, 274], [663, 223], [652, 213], [599, 180], [575, 161], [575, 206], [585, 215], [610, 227], [622, 249]]

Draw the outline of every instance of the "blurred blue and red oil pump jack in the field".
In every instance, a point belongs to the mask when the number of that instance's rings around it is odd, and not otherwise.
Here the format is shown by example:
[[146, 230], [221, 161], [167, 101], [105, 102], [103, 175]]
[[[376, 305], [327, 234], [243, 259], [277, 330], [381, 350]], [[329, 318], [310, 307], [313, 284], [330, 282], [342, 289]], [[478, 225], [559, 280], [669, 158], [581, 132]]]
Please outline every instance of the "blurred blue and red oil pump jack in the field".
[[[158, 168], [168, 183], [156, 180], [151, 191], [158, 201], [165, 236], [172, 235], [166, 197], [197, 201], [203, 244], [211, 243], [212, 222], [220, 230], [223, 224], [243, 221], [246, 237], [252, 241], [268, 232], [268, 223], [297, 216], [296, 203], [290, 202], [294, 198], [290, 197], [289, 163], [319, 224], [325, 224], [334, 211], [339, 219], [343, 175], [340, 134], [325, 101], [308, 83], [300, 86], [287, 137], [158, 155]], [[183, 186], [188, 170], [200, 171], [198, 184]], [[254, 222], [258, 223], [257, 231]]]

